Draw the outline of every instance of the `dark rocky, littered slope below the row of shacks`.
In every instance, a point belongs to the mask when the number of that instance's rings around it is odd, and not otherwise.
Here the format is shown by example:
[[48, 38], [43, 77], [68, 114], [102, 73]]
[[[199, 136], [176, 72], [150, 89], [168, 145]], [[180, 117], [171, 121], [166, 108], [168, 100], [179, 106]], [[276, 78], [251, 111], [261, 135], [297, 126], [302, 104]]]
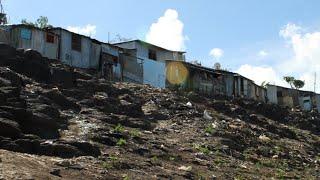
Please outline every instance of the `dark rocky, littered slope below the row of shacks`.
[[319, 179], [319, 122], [112, 84], [0, 44], [0, 179]]

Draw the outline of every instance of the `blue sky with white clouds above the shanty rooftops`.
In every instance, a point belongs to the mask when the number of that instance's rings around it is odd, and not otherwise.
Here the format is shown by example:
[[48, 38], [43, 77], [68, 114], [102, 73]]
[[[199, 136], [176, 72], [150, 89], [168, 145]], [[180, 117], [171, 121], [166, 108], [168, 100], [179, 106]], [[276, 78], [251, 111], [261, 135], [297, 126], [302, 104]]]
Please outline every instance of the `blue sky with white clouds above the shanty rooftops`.
[[[319, 0], [3, 0], [11, 24], [47, 16], [101, 41], [141, 39], [186, 51], [187, 61], [320, 92]], [[314, 86], [316, 82], [316, 86]]]

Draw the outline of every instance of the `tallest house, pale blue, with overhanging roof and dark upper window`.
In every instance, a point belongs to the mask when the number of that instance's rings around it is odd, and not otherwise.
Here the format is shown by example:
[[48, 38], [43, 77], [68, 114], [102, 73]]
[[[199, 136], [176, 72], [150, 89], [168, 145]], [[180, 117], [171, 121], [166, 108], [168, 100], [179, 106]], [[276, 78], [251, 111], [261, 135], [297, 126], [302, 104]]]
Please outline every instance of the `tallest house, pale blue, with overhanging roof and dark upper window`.
[[185, 52], [171, 51], [141, 41], [132, 40], [114, 44], [125, 49], [121, 55], [124, 81], [166, 87], [166, 61], [185, 61]]

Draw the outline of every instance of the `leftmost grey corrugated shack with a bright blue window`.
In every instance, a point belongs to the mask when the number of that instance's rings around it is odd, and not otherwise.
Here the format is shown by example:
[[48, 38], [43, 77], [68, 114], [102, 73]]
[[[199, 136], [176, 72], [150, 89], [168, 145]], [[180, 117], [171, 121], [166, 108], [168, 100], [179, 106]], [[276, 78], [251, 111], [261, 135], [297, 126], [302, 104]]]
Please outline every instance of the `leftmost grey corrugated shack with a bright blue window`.
[[34, 49], [49, 59], [59, 58], [59, 37], [30, 25], [2, 25], [0, 41], [15, 48]]

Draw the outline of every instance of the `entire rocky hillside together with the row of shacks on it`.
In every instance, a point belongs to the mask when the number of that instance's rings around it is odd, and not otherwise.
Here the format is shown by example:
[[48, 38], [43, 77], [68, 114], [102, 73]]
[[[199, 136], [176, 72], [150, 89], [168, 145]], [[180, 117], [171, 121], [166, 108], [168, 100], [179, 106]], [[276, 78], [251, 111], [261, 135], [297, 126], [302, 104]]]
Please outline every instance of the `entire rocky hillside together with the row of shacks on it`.
[[320, 96], [141, 40], [0, 30], [0, 179], [319, 179]]

